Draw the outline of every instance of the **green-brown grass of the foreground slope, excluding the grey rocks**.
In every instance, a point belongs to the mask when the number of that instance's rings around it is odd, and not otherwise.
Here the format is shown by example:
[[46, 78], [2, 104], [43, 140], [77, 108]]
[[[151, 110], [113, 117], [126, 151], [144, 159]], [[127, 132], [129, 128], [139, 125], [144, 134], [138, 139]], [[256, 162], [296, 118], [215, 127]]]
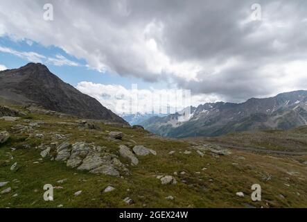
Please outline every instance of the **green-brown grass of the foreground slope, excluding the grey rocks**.
[[[44, 123], [30, 133], [21, 133], [13, 128], [17, 124], [27, 125], [25, 119]], [[144, 130], [116, 128], [103, 123], [98, 123], [99, 130], [85, 130], [60, 124], [75, 120], [28, 113], [15, 122], [0, 121], [0, 130], [8, 130], [11, 135], [8, 142], [0, 147], [0, 182], [10, 181], [0, 191], [7, 187], [12, 188], [9, 194], [0, 195], [0, 207], [307, 207], [307, 167], [301, 164], [307, 161], [306, 156], [273, 156], [231, 150], [232, 154], [227, 156], [217, 158], [207, 151], [201, 157], [189, 142], [159, 139]], [[122, 141], [108, 139], [108, 132], [113, 130], [125, 134]], [[39, 133], [44, 134], [44, 138], [33, 137]], [[55, 142], [52, 138], [55, 133], [67, 137], [58, 139], [59, 143], [66, 140], [71, 143], [93, 142], [107, 147], [110, 153], [116, 155], [119, 155], [119, 144], [133, 147], [136, 142], [154, 149], [157, 156], [138, 157], [139, 164], [128, 167], [130, 176], [116, 178], [93, 175], [68, 168], [64, 162], [51, 161], [50, 157], [42, 159], [40, 150], [35, 149], [35, 146]], [[265, 135], [276, 138], [279, 133]], [[306, 131], [302, 129], [290, 133], [295, 134], [295, 138], [306, 137]], [[232, 142], [237, 136], [229, 135], [225, 138], [229, 137], [233, 138]], [[25, 145], [28, 148], [24, 148]], [[17, 149], [12, 151], [12, 147]], [[186, 155], [186, 150], [192, 153]], [[170, 151], [175, 153], [169, 155]], [[119, 159], [129, 164], [128, 160], [122, 157]], [[19, 169], [10, 171], [10, 166], [15, 162]], [[181, 174], [182, 171], [185, 174]], [[177, 176], [174, 172], [177, 172]], [[173, 175], [178, 183], [161, 185], [156, 178], [158, 175]], [[266, 181], [263, 180], [264, 176], [272, 177]], [[57, 183], [63, 179], [67, 181]], [[250, 198], [254, 183], [262, 188], [262, 200], [259, 202], [253, 202]], [[54, 189], [53, 201], [43, 199], [45, 184], [63, 187]], [[108, 185], [116, 190], [103, 193]], [[74, 196], [79, 190], [82, 190], [82, 194]], [[243, 191], [245, 197], [236, 196], [238, 191]], [[13, 197], [14, 194], [18, 196]], [[134, 204], [127, 205], [123, 202], [128, 196], [134, 200]], [[173, 196], [175, 199], [166, 200], [166, 196]]]

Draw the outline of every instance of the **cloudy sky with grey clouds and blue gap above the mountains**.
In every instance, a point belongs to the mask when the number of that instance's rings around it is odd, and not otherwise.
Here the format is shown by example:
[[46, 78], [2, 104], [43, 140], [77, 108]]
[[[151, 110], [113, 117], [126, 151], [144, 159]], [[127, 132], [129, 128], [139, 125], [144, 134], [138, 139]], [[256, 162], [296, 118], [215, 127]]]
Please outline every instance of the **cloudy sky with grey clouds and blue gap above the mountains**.
[[307, 1], [0, 0], [0, 70], [29, 61], [115, 112], [132, 84], [192, 105], [307, 89]]

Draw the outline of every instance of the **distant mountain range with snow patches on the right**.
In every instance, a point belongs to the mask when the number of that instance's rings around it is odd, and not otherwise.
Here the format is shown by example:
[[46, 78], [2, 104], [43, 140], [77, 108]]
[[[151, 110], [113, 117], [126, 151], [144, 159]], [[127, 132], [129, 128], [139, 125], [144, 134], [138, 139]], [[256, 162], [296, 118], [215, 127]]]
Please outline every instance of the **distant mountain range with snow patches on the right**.
[[245, 130], [288, 130], [307, 124], [307, 91], [286, 92], [245, 103], [205, 103], [188, 121], [181, 114], [154, 117], [140, 123], [146, 130], [166, 137], [219, 136]]

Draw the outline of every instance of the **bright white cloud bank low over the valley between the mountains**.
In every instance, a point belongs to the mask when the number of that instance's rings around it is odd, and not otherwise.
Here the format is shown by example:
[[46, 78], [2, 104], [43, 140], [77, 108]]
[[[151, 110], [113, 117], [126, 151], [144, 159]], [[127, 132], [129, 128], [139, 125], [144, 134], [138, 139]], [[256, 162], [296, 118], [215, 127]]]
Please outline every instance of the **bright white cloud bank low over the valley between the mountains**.
[[137, 89], [137, 85], [126, 89], [122, 85], [81, 82], [76, 88], [96, 98], [105, 107], [118, 114], [130, 112], [167, 114], [179, 112], [189, 105], [197, 106], [200, 103], [219, 100], [217, 96], [212, 95], [189, 97], [189, 92], [183, 89]]

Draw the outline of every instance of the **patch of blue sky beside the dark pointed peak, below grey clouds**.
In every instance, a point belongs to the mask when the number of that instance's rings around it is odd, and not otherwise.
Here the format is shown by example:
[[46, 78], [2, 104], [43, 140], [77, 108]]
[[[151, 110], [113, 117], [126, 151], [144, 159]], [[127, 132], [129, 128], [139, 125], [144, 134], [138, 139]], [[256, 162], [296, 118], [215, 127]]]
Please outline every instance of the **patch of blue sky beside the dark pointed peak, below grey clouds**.
[[[48, 59], [42, 59], [42, 62], [49, 68], [49, 70], [59, 76], [64, 82], [69, 83], [76, 87], [78, 83], [82, 81], [100, 83], [104, 85], [122, 85], [123, 87], [130, 89], [132, 84], [137, 84], [139, 89], [148, 89], [153, 87], [155, 89], [166, 88], [165, 83], [148, 83], [139, 78], [131, 76], [120, 76], [119, 74], [113, 74], [109, 71], [101, 73], [96, 69], [89, 69], [86, 65], [85, 59], [78, 59], [72, 55], [69, 55], [64, 50], [57, 46], [43, 46], [40, 43], [32, 40], [12, 40], [8, 36], [0, 37], [0, 46], [8, 49], [12, 49], [18, 52], [34, 52], [45, 58], [56, 58], [56, 56], [64, 56], [71, 62], [76, 62], [78, 66], [73, 65], [55, 65], [54, 62], [48, 61]], [[17, 56], [14, 53], [6, 53], [0, 51], [0, 64], [5, 65], [8, 69], [15, 69], [26, 65], [30, 59]]]

